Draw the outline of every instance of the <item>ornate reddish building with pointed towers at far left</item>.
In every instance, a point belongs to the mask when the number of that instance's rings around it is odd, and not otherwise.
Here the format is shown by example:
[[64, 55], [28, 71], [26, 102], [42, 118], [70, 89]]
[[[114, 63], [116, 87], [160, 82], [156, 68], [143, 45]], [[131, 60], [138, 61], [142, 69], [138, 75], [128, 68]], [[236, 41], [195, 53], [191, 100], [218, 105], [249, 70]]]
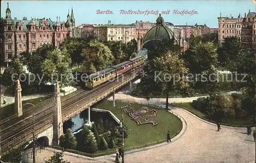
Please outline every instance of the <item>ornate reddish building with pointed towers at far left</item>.
[[73, 9], [71, 17], [68, 14], [66, 22], [51, 18], [36, 19], [23, 17], [12, 19], [9, 3], [6, 17], [1, 18], [1, 61], [6, 63], [22, 52], [34, 52], [42, 44], [58, 46], [66, 37], [72, 37], [72, 28], [75, 25]]

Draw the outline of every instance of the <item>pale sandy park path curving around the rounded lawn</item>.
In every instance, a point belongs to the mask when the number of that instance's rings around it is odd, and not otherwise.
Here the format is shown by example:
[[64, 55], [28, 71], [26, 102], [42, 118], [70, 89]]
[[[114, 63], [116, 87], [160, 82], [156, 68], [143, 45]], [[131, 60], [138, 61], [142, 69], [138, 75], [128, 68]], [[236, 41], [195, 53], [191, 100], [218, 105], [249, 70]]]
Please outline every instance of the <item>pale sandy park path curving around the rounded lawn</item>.
[[[134, 98], [125, 94], [116, 94], [116, 100], [165, 106], [165, 99]], [[179, 99], [179, 98], [178, 98]], [[176, 99], [176, 100], [178, 100]], [[192, 100], [193, 98], [190, 98]], [[112, 98], [108, 99], [112, 100]], [[172, 101], [170, 99], [170, 101]], [[125, 162], [254, 162], [255, 142], [252, 135], [246, 134], [246, 128], [221, 126], [217, 131], [215, 124], [204, 121], [196, 115], [177, 107], [170, 110], [178, 114], [185, 123], [183, 133], [172, 143], [163, 143], [157, 147], [148, 147], [125, 153]], [[178, 135], [179, 136], [179, 135]], [[44, 162], [53, 155], [55, 149], [47, 148], [36, 156], [36, 162]], [[115, 155], [96, 158], [64, 152], [64, 159], [70, 162], [114, 162]], [[31, 161], [31, 159], [29, 159]]]

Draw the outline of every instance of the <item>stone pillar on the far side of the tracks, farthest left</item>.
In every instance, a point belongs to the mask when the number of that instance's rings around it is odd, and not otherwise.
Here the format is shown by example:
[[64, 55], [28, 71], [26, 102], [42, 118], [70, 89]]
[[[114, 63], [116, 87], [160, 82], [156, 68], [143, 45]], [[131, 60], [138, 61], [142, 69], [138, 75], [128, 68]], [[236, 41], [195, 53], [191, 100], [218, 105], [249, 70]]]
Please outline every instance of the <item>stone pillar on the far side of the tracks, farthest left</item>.
[[15, 83], [15, 101], [14, 101], [14, 114], [18, 117], [22, 116], [22, 87], [20, 86], [19, 80]]

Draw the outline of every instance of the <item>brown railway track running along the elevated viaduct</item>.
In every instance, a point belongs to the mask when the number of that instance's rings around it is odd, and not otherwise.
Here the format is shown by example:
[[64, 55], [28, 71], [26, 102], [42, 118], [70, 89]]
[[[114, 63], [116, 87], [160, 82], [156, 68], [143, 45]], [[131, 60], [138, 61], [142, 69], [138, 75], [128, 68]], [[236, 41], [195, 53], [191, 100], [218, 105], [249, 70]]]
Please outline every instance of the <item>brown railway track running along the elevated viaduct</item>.
[[[131, 77], [133, 73], [129, 72], [124, 76], [124, 80], [127, 80], [129, 77]], [[79, 94], [77, 94], [76, 96], [74, 96], [75, 100], [65, 100], [63, 102], [63, 105], [61, 103], [61, 107], [62, 107], [62, 117], [65, 117], [66, 115], [69, 115], [70, 113], [74, 112], [75, 108], [77, 107], [77, 105], [89, 102], [91, 99], [94, 99], [98, 96], [98, 91], [101, 90], [108, 90], [110, 87], [112, 87], [114, 84], [117, 84], [118, 81], [113, 81], [113, 82], [108, 82], [105, 83], [104, 85], [99, 86], [98, 88], [95, 88], [93, 90], [89, 90], [89, 91], [82, 91]], [[90, 97], [88, 96], [90, 93]], [[73, 99], [73, 98], [72, 98]], [[53, 106], [53, 104], [52, 104]], [[68, 109], [69, 108], [69, 109]], [[43, 122], [46, 124], [51, 125], [53, 123], [53, 108], [47, 108], [45, 110], [36, 112], [35, 114], [35, 127], [39, 127]], [[32, 127], [32, 118], [28, 118], [26, 120], [20, 121], [19, 123], [16, 123], [12, 126], [9, 126], [7, 128], [5, 128], [4, 132], [2, 132], [2, 136], [1, 136], [1, 146], [5, 146], [6, 144], [8, 144], [8, 142], [11, 142], [14, 137], [18, 137], [20, 135], [24, 135], [26, 133], [30, 133], [31, 132], [31, 127]], [[3, 148], [2, 148], [3, 149]]]

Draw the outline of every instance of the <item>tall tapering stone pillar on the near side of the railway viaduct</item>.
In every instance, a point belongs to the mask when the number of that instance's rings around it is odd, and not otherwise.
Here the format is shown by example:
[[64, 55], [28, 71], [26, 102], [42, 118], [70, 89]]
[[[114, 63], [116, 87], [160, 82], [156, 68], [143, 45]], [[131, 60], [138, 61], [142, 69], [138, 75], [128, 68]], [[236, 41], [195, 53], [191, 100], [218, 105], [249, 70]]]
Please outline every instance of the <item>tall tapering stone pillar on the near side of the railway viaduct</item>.
[[58, 82], [55, 84], [55, 97], [53, 107], [53, 138], [52, 145], [59, 145], [59, 137], [63, 135], [62, 117], [61, 117], [61, 101]]

